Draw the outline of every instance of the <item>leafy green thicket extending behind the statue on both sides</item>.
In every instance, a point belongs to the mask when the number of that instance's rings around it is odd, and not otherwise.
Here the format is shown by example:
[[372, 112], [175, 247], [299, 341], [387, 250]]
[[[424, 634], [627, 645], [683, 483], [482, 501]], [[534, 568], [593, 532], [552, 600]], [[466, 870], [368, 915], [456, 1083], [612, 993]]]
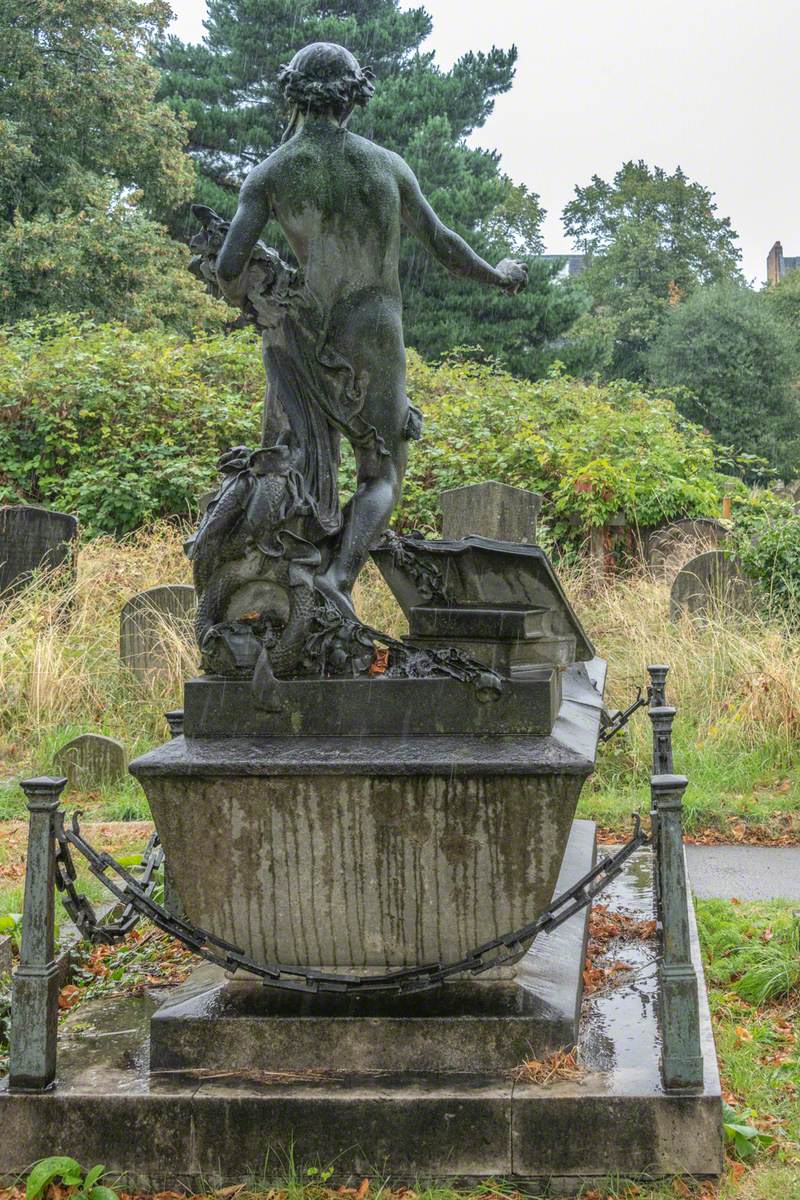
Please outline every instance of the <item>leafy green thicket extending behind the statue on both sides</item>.
[[[187, 512], [218, 454], [258, 440], [263, 386], [247, 330], [187, 342], [65, 317], [0, 331], [0, 502], [74, 511], [89, 533]], [[414, 353], [408, 390], [426, 427], [402, 528], [434, 529], [439, 493], [485, 479], [542, 492], [566, 540], [619, 512], [652, 526], [718, 511], [714, 444], [666, 394], [558, 373], [530, 383]], [[345, 490], [353, 480], [345, 456]]]

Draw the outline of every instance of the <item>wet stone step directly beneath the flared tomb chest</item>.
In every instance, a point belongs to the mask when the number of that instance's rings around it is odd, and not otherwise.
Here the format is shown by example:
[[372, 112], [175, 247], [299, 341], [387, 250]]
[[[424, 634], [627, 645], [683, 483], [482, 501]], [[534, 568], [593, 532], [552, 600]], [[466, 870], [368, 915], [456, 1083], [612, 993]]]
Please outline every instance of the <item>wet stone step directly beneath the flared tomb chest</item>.
[[[576, 821], [554, 896], [595, 860], [595, 824]], [[512, 1070], [577, 1043], [589, 910], [540, 935], [517, 978], [453, 979], [415, 996], [300, 996], [205, 964], [150, 1022], [151, 1070], [362, 1073]]]

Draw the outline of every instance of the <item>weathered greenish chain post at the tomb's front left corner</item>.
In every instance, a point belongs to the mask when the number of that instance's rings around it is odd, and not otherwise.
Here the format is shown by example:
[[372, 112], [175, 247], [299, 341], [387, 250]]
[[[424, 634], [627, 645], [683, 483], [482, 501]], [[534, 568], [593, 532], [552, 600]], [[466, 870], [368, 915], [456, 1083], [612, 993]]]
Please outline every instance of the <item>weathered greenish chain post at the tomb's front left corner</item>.
[[66, 779], [25, 779], [28, 858], [19, 966], [11, 1000], [8, 1087], [41, 1092], [55, 1081], [59, 967], [55, 956], [55, 821]]

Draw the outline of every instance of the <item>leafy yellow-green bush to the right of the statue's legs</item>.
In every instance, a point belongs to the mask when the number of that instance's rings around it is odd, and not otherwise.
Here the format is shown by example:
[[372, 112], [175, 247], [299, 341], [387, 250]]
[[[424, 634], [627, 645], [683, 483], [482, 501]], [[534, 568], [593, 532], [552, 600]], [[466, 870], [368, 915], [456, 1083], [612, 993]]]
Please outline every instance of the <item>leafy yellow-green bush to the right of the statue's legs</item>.
[[497, 479], [546, 497], [557, 538], [616, 514], [634, 526], [718, 511], [711, 439], [666, 394], [638, 384], [539, 382], [413, 358], [409, 394], [426, 419], [410, 455], [402, 520], [433, 528], [446, 487]]

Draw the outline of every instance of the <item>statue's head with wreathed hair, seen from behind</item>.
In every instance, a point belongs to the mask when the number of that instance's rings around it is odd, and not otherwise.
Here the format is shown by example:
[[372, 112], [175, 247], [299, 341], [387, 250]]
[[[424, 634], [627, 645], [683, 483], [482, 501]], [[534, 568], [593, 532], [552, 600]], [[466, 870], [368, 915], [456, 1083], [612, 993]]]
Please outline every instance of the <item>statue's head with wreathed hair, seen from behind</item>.
[[281, 67], [278, 84], [294, 112], [330, 114], [341, 124], [374, 91], [372, 71], [335, 42], [312, 42]]

